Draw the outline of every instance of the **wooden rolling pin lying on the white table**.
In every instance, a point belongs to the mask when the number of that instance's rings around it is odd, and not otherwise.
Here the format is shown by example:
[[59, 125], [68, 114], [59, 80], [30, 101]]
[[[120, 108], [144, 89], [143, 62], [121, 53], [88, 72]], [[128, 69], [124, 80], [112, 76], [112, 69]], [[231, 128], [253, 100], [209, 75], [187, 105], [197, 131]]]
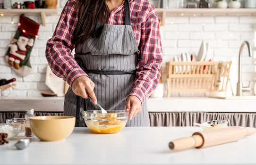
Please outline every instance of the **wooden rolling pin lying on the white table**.
[[254, 127], [227, 127], [212, 129], [209, 131], [195, 132], [187, 138], [180, 138], [169, 143], [172, 150], [184, 150], [189, 148], [205, 148], [219, 144], [229, 143], [242, 139], [244, 136], [250, 136], [256, 133]]

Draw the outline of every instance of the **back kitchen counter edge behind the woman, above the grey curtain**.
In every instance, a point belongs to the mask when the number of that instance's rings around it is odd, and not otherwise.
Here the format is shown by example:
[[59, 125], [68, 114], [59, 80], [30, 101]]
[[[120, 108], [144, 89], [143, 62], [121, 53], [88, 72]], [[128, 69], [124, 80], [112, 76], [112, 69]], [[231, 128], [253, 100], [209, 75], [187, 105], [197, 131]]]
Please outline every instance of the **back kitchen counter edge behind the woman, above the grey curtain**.
[[[214, 99], [204, 97], [149, 98], [149, 112], [256, 112], [255, 99]], [[63, 112], [63, 97], [0, 97], [0, 112]]]

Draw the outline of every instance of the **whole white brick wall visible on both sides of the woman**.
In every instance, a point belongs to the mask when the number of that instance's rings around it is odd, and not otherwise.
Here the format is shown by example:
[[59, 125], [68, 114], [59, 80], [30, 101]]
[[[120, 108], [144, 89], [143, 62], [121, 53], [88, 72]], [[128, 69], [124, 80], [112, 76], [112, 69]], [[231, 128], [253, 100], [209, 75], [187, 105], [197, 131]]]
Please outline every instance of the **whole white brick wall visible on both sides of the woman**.
[[[45, 59], [46, 41], [51, 37], [59, 20], [60, 12], [67, 0], [59, 0], [59, 15], [47, 16], [47, 25], [41, 25], [39, 38], [35, 41], [31, 53], [33, 73], [26, 77], [18, 77], [11, 71], [4, 60], [8, 43], [14, 36], [19, 16], [0, 17], [0, 78], [17, 77], [17, 87], [2, 92], [9, 96], [40, 96], [41, 91], [49, 91], [45, 85], [45, 71], [47, 61]], [[35, 21], [41, 22], [41, 17], [29, 15]], [[11, 22], [14, 24], [11, 24]], [[209, 41], [214, 54], [214, 60], [232, 60], [231, 70], [232, 87], [236, 87], [238, 75], [238, 55], [242, 41], [250, 41], [254, 46], [256, 30], [255, 15], [167, 15], [166, 25], [161, 27], [164, 61], [172, 60], [174, 56], [182, 52], [197, 54], [202, 40]], [[247, 51], [243, 53], [242, 80], [245, 85], [249, 81], [251, 87], [255, 82], [255, 61], [249, 58]]]

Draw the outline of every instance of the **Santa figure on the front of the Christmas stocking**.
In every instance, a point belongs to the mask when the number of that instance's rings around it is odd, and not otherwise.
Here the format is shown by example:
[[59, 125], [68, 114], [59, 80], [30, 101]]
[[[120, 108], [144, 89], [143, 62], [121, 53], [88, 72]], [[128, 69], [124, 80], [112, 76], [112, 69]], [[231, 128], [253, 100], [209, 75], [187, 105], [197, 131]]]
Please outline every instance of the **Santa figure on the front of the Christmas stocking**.
[[15, 69], [20, 68], [20, 62], [26, 58], [27, 49], [34, 45], [34, 39], [28, 39], [25, 34], [20, 35], [17, 41], [14, 41], [10, 47], [8, 64]]

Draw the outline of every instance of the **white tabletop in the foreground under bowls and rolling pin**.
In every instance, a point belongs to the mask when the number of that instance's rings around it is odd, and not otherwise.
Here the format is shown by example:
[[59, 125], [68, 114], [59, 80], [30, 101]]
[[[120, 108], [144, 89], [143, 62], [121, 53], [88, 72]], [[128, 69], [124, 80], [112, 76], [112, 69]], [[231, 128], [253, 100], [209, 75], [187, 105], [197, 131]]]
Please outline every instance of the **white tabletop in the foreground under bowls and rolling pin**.
[[[126, 127], [117, 134], [92, 134], [75, 128], [59, 142], [33, 138], [30, 146], [16, 150], [11, 140], [0, 146], [0, 164], [35, 165], [170, 165], [255, 164], [256, 135], [210, 148], [174, 152], [168, 143], [201, 131], [199, 127]], [[19, 135], [22, 138], [22, 134]]]

